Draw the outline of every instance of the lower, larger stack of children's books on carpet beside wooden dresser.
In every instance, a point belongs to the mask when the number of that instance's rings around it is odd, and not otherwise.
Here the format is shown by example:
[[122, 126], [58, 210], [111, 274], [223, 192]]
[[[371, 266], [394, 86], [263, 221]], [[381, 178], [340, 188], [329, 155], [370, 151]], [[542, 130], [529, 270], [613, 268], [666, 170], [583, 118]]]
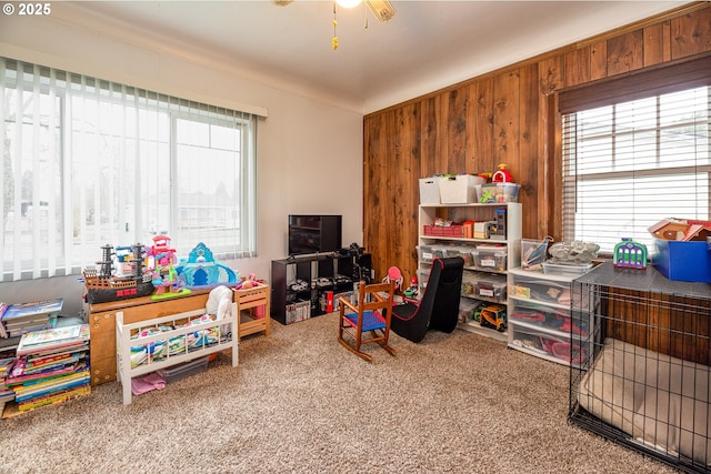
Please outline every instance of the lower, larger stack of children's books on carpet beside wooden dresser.
[[88, 395], [90, 380], [88, 324], [29, 332], [4, 380], [14, 404], [6, 405], [3, 416]]

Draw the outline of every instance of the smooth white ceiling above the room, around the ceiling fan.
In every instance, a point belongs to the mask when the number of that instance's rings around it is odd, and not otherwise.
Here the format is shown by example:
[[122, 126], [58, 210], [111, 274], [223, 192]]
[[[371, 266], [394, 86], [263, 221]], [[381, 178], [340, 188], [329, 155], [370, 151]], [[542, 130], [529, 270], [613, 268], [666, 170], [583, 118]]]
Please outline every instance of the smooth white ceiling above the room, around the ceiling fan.
[[246, 77], [369, 113], [684, 3], [392, 1], [397, 14], [388, 23], [361, 4], [338, 9], [336, 51], [331, 1], [81, 1], [54, 8], [73, 9], [82, 21], [100, 14], [106, 34], [121, 31], [132, 41], [217, 58]]

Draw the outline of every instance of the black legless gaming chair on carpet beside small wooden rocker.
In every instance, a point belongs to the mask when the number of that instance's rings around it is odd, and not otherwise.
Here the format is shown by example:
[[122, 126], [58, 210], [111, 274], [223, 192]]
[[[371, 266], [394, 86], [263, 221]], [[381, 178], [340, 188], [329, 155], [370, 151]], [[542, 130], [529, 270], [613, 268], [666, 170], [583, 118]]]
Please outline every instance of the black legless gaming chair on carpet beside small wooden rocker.
[[422, 341], [428, 330], [454, 331], [463, 269], [461, 256], [434, 259], [419, 304], [408, 302], [392, 307], [392, 331], [412, 342]]

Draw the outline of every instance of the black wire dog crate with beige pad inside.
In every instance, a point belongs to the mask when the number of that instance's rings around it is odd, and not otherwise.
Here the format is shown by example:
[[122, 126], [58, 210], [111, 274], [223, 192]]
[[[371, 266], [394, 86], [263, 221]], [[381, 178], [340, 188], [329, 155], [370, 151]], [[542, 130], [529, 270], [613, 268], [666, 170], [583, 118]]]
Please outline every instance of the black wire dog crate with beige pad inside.
[[711, 285], [610, 262], [574, 280], [572, 295], [595, 330], [593, 356], [570, 370], [569, 422], [683, 472], [711, 472]]

